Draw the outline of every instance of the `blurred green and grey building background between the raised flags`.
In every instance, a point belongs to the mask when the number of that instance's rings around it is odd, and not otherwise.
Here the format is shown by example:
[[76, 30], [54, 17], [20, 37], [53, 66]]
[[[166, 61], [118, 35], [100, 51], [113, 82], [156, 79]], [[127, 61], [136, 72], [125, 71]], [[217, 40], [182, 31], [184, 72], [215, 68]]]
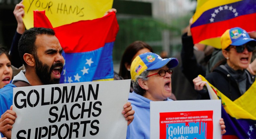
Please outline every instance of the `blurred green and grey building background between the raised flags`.
[[118, 11], [120, 25], [113, 52], [115, 70], [119, 70], [124, 49], [136, 40], [145, 41], [157, 54], [161, 51], [167, 51], [169, 56], [180, 53], [181, 30], [188, 25], [195, 7], [195, 0], [114, 0], [113, 8]]

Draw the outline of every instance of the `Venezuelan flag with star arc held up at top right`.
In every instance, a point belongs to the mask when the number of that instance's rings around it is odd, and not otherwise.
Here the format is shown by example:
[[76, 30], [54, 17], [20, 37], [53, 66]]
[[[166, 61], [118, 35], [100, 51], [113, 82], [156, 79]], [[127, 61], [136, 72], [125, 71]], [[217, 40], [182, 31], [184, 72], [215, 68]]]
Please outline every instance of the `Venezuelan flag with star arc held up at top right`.
[[256, 31], [255, 0], [198, 0], [191, 32], [194, 43], [220, 47], [220, 36], [229, 28]]

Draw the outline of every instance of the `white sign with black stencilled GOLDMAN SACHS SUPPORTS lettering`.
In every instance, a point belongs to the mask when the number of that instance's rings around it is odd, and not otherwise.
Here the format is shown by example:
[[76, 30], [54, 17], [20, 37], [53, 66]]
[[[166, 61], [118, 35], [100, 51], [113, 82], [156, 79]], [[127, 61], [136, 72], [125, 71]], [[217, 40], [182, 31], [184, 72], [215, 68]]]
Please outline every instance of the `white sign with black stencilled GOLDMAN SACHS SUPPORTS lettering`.
[[16, 87], [12, 139], [126, 138], [131, 80]]

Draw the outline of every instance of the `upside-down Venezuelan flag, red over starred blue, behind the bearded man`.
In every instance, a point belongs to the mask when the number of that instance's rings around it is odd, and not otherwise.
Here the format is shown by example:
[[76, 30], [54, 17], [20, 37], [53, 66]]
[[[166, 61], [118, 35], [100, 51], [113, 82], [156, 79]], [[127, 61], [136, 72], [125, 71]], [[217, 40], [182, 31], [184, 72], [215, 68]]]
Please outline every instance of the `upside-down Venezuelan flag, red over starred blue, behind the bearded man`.
[[53, 28], [45, 12], [34, 11], [34, 27], [55, 31], [64, 50], [61, 83], [113, 80], [112, 49], [119, 30], [115, 13]]

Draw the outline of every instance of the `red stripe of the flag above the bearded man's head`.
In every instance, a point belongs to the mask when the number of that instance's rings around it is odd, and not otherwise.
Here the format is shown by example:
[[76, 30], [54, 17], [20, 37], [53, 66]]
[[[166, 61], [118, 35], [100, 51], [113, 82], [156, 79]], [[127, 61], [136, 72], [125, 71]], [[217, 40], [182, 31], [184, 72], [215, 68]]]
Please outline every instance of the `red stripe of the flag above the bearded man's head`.
[[[52, 28], [52, 25], [45, 16], [44, 11], [37, 11], [36, 14], [41, 14], [41, 16], [35, 16], [41, 17], [41, 19], [34, 18], [34, 20], [39, 21], [37, 23], [40, 23], [40, 25], [35, 24], [34, 27]], [[59, 39], [61, 47], [64, 49], [65, 53], [93, 51], [104, 47], [105, 43], [115, 41], [119, 27], [115, 16], [111, 16], [112, 14], [115, 13], [111, 12], [107, 16], [94, 20], [83, 20], [55, 27], [53, 30], [55, 31], [56, 37]], [[104, 23], [104, 25], [102, 25], [102, 23]], [[111, 27], [113, 27], [114, 30], [110, 30]], [[113, 33], [108, 33], [109, 31]]]

